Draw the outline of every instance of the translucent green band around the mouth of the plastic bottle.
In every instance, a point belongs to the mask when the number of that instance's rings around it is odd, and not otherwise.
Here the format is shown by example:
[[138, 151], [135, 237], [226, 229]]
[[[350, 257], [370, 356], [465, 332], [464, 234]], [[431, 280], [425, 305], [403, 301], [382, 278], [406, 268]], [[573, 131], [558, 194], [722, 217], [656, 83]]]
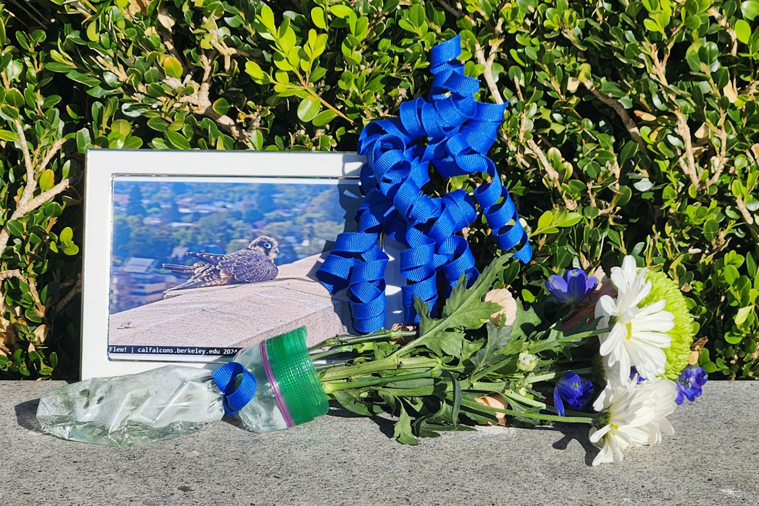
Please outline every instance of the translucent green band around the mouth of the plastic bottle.
[[306, 335], [306, 328], [301, 327], [266, 341], [266, 354], [294, 425], [310, 422], [329, 410]]

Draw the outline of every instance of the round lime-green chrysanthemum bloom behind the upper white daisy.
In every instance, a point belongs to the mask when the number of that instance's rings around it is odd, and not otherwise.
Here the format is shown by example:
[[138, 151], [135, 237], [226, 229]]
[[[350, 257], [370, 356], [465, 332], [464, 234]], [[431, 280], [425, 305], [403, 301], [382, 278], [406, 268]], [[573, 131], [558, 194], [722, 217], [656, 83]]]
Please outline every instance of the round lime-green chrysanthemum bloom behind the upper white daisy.
[[685, 302], [680, 287], [665, 273], [648, 271], [646, 272], [646, 281], [651, 282], [651, 293], [639, 306], [647, 306], [663, 299], [666, 300], [664, 309], [675, 317], [675, 325], [672, 330], [667, 332], [672, 338], [672, 344], [664, 350], [666, 369], [661, 375], [663, 378], [674, 381], [679, 378], [682, 369], [688, 366], [688, 356], [691, 354], [691, 344], [695, 334], [693, 316], [688, 311], [688, 303]]

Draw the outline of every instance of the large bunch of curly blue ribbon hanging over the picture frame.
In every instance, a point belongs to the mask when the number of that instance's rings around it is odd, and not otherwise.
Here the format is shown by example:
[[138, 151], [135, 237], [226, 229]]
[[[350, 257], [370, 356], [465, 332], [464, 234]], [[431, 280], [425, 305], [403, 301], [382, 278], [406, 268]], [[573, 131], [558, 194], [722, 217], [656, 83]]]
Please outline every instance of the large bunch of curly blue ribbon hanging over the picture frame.
[[[388, 256], [378, 246], [383, 234], [404, 244], [400, 254], [404, 321], [418, 322], [414, 297], [434, 311], [438, 275], [447, 290], [462, 275], [468, 284], [480, 274], [469, 245], [458, 235], [477, 218], [477, 204], [501, 250], [517, 248], [523, 263], [532, 258], [528, 235], [487, 152], [496, 141], [505, 104], [474, 100], [479, 81], [464, 74], [456, 61], [461, 39], [455, 36], [430, 50], [432, 87], [400, 106], [399, 118], [372, 121], [358, 140], [366, 156], [361, 168], [364, 202], [357, 211], [357, 232], [340, 234], [317, 276], [335, 292], [348, 288], [353, 326], [374, 332], [385, 325], [385, 267]], [[430, 165], [446, 178], [483, 174], [486, 183], [468, 195], [455, 190], [439, 198], [422, 191]], [[474, 197], [474, 198], [473, 198]]]

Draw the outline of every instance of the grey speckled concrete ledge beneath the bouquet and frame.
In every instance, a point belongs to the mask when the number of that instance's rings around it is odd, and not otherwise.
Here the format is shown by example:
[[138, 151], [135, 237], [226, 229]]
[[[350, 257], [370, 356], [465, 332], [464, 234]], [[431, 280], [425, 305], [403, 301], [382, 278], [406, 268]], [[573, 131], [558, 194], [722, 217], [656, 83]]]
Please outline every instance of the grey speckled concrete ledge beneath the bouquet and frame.
[[[589, 467], [587, 429], [486, 427], [403, 446], [392, 425], [342, 410], [254, 434], [218, 422], [119, 450], [38, 432], [59, 382], [0, 382], [3, 506], [734, 506], [759, 504], [759, 382], [710, 382], [671, 417], [676, 435]], [[379, 425], [378, 425], [379, 424]]]

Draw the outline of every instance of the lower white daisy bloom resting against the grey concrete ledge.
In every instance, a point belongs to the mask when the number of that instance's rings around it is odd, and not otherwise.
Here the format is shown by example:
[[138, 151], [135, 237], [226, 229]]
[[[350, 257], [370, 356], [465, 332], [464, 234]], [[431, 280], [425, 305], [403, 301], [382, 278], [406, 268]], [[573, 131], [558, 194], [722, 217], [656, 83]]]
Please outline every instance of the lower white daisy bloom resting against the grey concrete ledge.
[[669, 379], [610, 381], [593, 404], [594, 410], [606, 411], [606, 425], [591, 428], [591, 442], [600, 448], [593, 460], [597, 466], [622, 460], [622, 451], [636, 445], [655, 445], [662, 434], [672, 435], [666, 416], [672, 414], [677, 404], [677, 388]]

